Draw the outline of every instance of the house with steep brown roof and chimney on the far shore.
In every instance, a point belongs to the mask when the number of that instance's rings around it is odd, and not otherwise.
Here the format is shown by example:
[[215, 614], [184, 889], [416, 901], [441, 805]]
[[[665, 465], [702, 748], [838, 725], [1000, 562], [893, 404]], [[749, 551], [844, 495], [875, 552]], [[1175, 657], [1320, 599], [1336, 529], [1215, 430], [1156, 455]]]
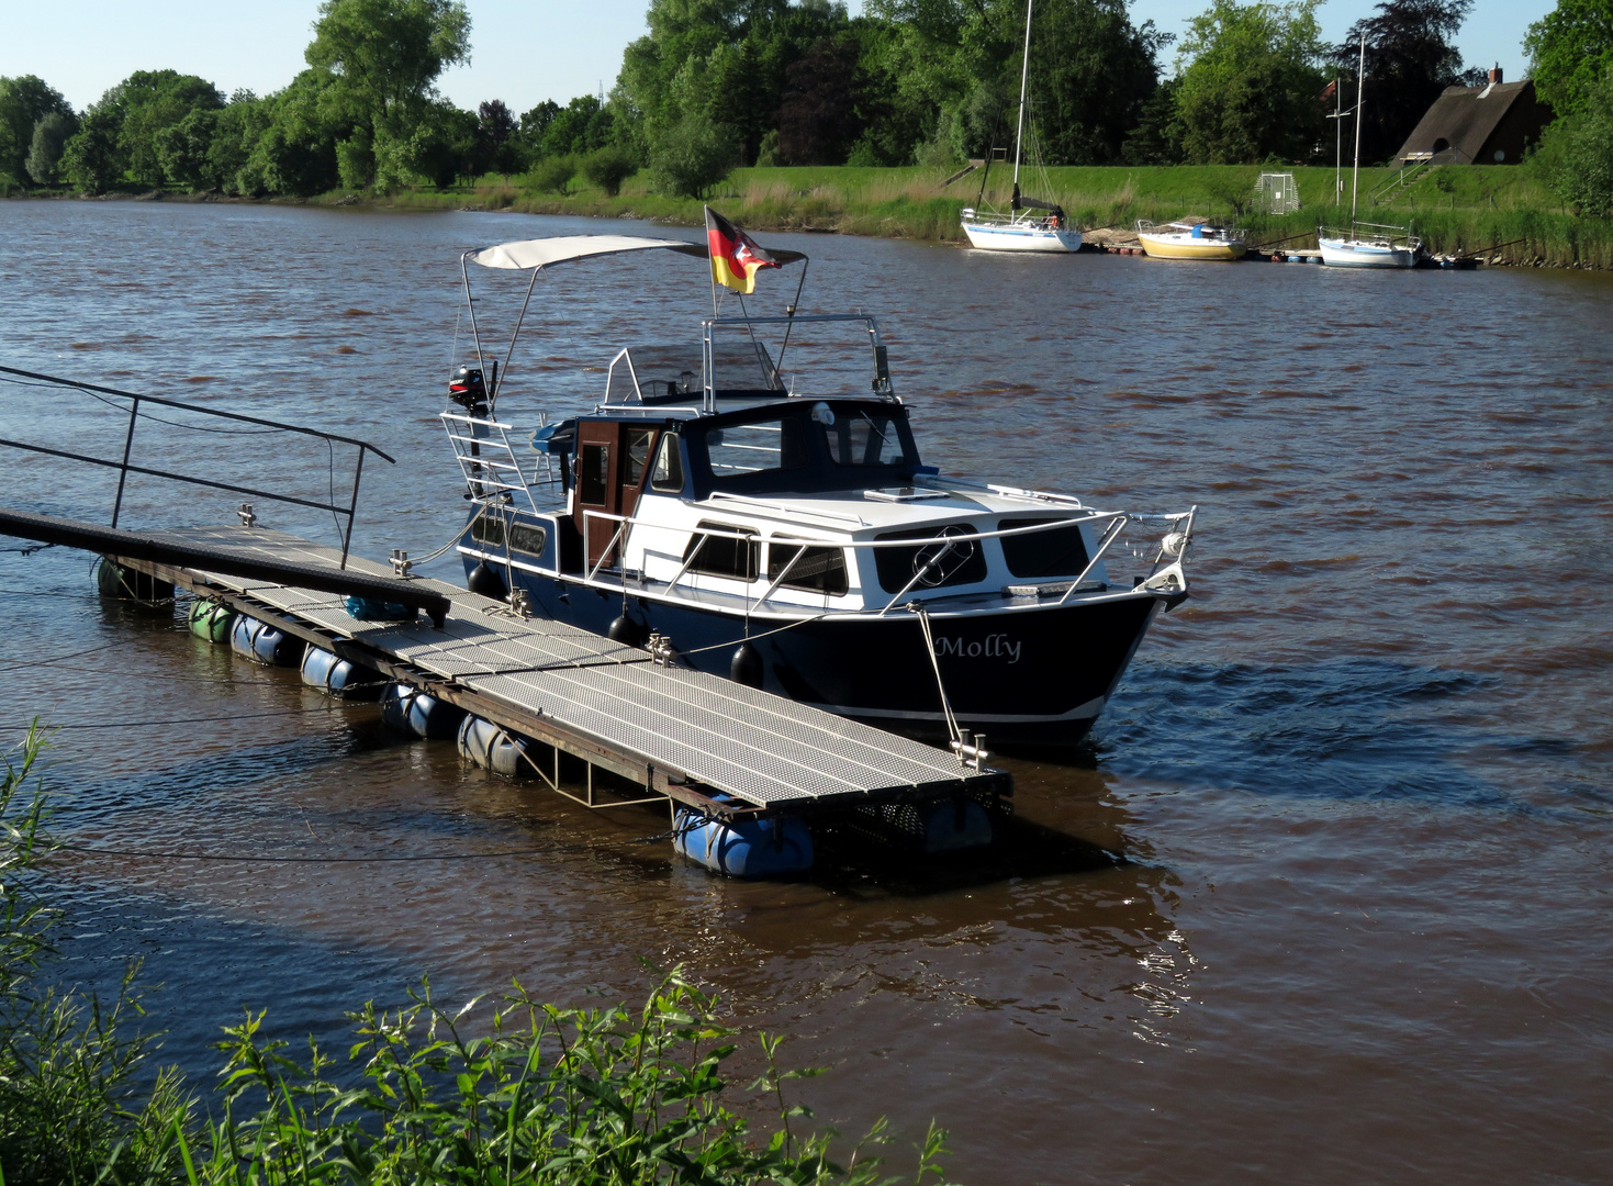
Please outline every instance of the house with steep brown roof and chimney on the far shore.
[[1492, 69], [1482, 87], [1445, 87], [1394, 163], [1516, 165], [1548, 123], [1552, 108], [1534, 97], [1534, 82], [1502, 82]]

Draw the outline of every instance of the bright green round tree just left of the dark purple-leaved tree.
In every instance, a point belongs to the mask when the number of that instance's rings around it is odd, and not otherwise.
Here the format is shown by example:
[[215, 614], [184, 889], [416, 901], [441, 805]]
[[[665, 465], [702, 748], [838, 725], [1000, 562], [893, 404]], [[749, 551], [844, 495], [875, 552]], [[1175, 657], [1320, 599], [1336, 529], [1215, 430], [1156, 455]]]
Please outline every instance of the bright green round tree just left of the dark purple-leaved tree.
[[1215, 3], [1189, 21], [1177, 55], [1176, 111], [1189, 161], [1307, 157], [1319, 139], [1319, 0]]

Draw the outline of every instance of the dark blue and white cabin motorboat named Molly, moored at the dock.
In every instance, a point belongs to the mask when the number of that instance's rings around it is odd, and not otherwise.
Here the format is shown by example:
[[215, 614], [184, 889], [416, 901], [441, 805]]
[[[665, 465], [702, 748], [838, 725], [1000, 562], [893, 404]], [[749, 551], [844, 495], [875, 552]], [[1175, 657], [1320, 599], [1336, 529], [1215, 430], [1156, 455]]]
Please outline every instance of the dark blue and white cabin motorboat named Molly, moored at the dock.
[[[465, 265], [529, 269], [531, 299], [545, 269], [627, 253], [706, 247], [576, 236]], [[442, 411], [469, 500], [456, 547], [468, 586], [510, 612], [953, 747], [1040, 747], [1090, 729], [1155, 615], [1187, 595], [1195, 508], [931, 465], [873, 315], [713, 311], [682, 345], [600, 357], [592, 408], [550, 420], [515, 410], [521, 319], [500, 376], [469, 308], [476, 352]], [[782, 370], [792, 334], [834, 365]]]

